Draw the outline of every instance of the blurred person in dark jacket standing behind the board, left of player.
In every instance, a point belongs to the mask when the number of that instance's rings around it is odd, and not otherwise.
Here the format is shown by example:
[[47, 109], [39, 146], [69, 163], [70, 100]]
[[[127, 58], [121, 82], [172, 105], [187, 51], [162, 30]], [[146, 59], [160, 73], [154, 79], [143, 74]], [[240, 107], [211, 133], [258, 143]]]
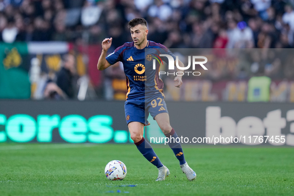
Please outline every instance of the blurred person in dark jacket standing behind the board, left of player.
[[57, 73], [57, 86], [68, 96], [75, 97], [74, 82], [76, 76], [76, 59], [72, 54], [67, 54], [63, 60], [63, 66]]

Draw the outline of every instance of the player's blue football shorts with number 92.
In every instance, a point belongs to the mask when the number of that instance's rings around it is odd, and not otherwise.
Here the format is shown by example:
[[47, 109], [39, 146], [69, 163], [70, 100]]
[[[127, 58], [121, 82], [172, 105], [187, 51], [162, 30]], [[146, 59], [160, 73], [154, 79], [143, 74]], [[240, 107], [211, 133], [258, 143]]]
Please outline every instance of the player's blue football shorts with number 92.
[[155, 118], [159, 113], [168, 113], [166, 102], [163, 98], [141, 98], [141, 99], [129, 99], [124, 103], [124, 112], [126, 123], [130, 122], [141, 122], [143, 124], [149, 125], [148, 115]]

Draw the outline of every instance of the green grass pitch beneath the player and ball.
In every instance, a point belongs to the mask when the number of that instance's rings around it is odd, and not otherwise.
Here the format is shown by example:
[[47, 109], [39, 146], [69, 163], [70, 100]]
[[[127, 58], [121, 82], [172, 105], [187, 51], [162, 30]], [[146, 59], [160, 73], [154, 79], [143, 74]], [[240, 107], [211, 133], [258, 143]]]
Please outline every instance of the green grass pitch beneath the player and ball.
[[[2, 143], [0, 196], [294, 195], [294, 148], [204, 147], [184, 148], [197, 174], [192, 182], [172, 150], [155, 148], [171, 172], [166, 181], [155, 182], [158, 170], [133, 144]], [[123, 181], [104, 175], [115, 159], [127, 167]]]

